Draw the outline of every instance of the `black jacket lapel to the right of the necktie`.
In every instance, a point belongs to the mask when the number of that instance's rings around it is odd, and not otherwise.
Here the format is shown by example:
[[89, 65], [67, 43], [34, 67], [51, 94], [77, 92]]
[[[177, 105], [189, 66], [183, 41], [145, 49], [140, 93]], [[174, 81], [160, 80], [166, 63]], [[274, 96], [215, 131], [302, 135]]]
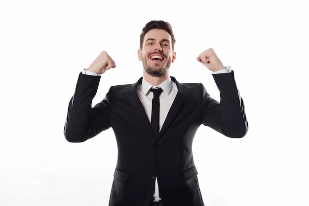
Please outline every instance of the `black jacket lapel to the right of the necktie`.
[[168, 128], [168, 126], [172, 123], [172, 121], [174, 120], [175, 116], [177, 115], [178, 111], [180, 110], [180, 108], [182, 107], [183, 103], [185, 102], [187, 98], [187, 86], [180, 84], [172, 76], [171, 76], [171, 79], [172, 81], [176, 83], [178, 92], [177, 92], [174, 102], [172, 103], [170, 110], [168, 111], [168, 114], [166, 116], [166, 119], [161, 128], [158, 138], [160, 137], [160, 134], [163, 134], [164, 131]]

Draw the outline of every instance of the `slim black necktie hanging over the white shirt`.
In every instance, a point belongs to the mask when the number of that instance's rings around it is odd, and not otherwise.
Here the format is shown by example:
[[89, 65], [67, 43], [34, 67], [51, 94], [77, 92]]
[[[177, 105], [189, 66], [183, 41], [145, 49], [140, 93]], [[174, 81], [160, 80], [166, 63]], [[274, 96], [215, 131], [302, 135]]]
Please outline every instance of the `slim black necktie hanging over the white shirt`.
[[159, 87], [157, 89], [151, 88], [149, 91], [154, 93], [153, 106], [151, 112], [151, 126], [153, 127], [155, 136], [157, 136], [159, 134], [159, 113], [160, 113], [159, 96], [163, 90]]

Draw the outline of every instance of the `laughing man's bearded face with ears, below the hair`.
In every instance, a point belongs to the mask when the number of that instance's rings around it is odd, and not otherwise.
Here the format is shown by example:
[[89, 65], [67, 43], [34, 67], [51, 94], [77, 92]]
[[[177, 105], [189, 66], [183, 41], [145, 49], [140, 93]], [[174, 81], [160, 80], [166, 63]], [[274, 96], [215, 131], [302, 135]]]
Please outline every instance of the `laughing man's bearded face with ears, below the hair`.
[[143, 47], [138, 50], [138, 59], [143, 61], [145, 71], [151, 76], [164, 76], [176, 54], [172, 38], [165, 30], [152, 29], [145, 34]]

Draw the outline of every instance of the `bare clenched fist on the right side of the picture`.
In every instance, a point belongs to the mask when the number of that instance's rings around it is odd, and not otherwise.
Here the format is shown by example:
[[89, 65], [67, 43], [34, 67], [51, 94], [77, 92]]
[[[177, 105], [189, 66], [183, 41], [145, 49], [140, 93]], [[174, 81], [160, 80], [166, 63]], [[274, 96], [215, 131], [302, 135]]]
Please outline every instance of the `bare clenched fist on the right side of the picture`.
[[219, 71], [225, 69], [217, 54], [212, 48], [203, 51], [196, 59], [211, 71]]

